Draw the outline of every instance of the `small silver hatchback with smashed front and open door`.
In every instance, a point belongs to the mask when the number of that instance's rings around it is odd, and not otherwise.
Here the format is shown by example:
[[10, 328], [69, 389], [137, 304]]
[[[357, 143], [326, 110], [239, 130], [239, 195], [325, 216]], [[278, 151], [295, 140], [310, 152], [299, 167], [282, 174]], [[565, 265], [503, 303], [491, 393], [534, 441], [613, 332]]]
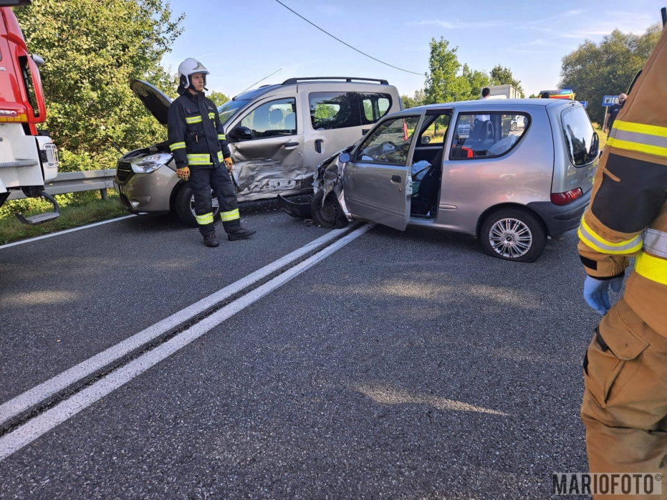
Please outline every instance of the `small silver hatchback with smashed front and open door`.
[[[518, 122], [523, 126], [513, 126]], [[598, 149], [577, 101], [485, 99], [411, 108], [384, 117], [320, 165], [310, 215], [325, 227], [364, 219], [400, 230], [466, 233], [488, 255], [534, 262], [547, 236], [579, 225]]]

